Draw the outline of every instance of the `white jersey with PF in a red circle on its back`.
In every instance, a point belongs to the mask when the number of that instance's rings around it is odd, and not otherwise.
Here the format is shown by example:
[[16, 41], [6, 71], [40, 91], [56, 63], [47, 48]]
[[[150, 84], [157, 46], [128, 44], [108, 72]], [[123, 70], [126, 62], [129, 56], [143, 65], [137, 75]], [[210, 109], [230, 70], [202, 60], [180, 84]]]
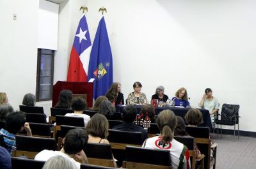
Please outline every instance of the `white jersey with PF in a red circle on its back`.
[[145, 140], [142, 147], [147, 149], [169, 150], [173, 169], [191, 168], [188, 148], [183, 143], [177, 142], [174, 138], [172, 142], [163, 143], [161, 136], [154, 136]]

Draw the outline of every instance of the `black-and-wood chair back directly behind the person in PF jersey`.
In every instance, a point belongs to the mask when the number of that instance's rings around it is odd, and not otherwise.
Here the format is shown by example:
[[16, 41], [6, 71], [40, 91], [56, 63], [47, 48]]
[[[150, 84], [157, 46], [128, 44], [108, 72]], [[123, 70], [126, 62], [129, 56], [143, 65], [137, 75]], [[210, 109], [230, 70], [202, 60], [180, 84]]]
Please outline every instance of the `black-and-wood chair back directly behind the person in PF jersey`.
[[127, 146], [125, 150], [124, 168], [136, 169], [170, 169], [172, 161], [170, 151], [157, 149], [144, 149]]

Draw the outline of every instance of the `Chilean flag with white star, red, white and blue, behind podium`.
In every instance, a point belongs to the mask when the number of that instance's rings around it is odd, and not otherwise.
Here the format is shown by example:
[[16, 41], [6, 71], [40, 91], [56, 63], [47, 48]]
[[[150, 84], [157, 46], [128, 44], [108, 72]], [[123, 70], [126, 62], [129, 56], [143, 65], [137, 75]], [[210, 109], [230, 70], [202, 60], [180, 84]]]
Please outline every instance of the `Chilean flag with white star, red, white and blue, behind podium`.
[[87, 82], [88, 64], [92, 50], [91, 38], [85, 15], [76, 30], [68, 66], [68, 82]]

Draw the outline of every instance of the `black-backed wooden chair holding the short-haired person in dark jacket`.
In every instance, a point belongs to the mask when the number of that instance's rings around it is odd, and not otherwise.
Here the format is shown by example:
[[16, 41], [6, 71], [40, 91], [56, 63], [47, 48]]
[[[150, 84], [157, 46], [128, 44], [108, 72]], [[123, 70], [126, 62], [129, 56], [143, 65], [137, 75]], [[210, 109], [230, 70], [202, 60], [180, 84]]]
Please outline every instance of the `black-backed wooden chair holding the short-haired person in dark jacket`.
[[124, 152], [126, 145], [141, 147], [143, 144], [141, 132], [118, 131], [115, 129], [109, 129], [108, 131], [108, 140], [119, 166], [122, 165], [122, 161], [125, 159]]

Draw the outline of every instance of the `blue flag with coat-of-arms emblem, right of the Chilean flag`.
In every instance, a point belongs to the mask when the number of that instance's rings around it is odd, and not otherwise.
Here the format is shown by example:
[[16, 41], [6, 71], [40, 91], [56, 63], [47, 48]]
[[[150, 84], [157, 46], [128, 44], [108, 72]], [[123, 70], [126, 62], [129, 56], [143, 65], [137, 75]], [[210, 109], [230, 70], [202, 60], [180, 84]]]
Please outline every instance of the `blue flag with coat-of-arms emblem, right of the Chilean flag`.
[[105, 95], [113, 83], [112, 53], [104, 17], [100, 19], [90, 55], [88, 78], [93, 82], [93, 98]]

